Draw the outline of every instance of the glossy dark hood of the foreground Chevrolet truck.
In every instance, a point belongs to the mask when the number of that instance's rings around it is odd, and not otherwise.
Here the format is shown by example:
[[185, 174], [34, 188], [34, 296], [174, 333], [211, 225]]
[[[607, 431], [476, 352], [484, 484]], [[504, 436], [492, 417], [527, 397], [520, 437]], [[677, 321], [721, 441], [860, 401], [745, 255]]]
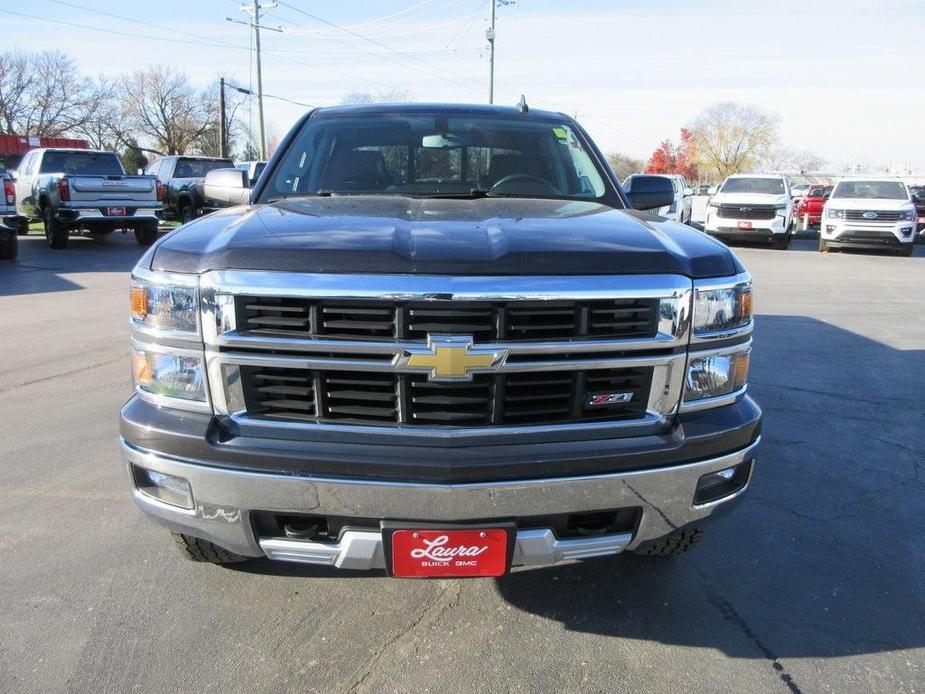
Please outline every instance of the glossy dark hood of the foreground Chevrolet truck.
[[594, 202], [292, 198], [181, 227], [155, 270], [720, 277], [742, 271], [721, 243], [661, 217]]

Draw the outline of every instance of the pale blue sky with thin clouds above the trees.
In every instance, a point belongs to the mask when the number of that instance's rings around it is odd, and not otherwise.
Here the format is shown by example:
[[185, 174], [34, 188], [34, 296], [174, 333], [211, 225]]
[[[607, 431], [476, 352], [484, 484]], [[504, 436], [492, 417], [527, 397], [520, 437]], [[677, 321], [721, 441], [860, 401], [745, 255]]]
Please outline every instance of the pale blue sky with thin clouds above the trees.
[[[249, 4], [249, 3], [248, 3]], [[490, 0], [264, 0], [271, 133], [306, 105], [401, 90], [488, 98]], [[88, 74], [150, 64], [200, 86], [251, 86], [241, 0], [0, 0], [0, 49], [57, 49]], [[25, 16], [28, 15], [28, 16]], [[311, 15], [311, 16], [310, 16]], [[516, 0], [497, 12], [495, 102], [576, 115], [605, 151], [640, 159], [715, 102], [779, 118], [784, 146], [832, 171], [925, 174], [925, 1]], [[79, 25], [79, 26], [75, 26]], [[293, 104], [283, 99], [299, 102]], [[252, 109], [256, 118], [256, 107]]]

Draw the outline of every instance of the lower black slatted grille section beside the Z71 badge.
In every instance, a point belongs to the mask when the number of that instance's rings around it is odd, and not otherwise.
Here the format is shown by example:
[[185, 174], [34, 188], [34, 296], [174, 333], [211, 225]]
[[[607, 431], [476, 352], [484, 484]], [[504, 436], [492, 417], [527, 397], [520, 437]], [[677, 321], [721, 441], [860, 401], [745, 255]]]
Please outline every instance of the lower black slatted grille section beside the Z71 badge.
[[[425, 375], [242, 366], [248, 413], [298, 422], [383, 426], [543, 425], [645, 414], [651, 367], [479, 374], [471, 382]], [[589, 396], [631, 393], [629, 402], [589, 406]], [[399, 394], [406, 393], [399, 408]], [[316, 398], [316, 395], [319, 396]], [[316, 405], [316, 401], [320, 404]], [[316, 407], [317, 413], [316, 413]]]

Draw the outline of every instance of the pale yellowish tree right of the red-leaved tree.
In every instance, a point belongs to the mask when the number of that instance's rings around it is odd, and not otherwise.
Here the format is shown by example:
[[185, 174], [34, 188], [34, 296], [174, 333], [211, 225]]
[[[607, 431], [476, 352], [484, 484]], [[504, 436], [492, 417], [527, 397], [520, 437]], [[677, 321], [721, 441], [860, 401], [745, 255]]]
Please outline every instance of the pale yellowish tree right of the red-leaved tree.
[[722, 179], [765, 162], [777, 142], [777, 118], [757, 106], [714, 104], [690, 126], [702, 173]]

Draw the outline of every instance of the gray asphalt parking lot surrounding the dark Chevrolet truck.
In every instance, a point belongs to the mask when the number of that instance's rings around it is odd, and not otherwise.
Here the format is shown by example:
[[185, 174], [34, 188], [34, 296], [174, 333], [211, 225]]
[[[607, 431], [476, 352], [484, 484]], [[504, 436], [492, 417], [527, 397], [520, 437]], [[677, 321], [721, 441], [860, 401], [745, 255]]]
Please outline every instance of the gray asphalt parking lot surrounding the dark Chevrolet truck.
[[754, 486], [696, 552], [499, 580], [182, 560], [128, 495], [131, 235], [0, 265], [0, 690], [925, 688], [925, 246], [738, 248]]

